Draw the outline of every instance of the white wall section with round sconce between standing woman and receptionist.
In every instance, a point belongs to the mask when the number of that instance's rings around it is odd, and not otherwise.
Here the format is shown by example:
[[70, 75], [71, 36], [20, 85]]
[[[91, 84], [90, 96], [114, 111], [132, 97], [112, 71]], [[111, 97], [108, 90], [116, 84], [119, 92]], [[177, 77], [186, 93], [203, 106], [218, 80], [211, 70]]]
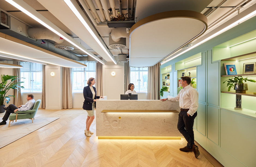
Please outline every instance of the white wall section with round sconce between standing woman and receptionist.
[[[111, 72], [116, 75], [112, 76]], [[120, 94], [124, 94], [124, 64], [103, 65], [103, 96], [108, 100], [120, 100]]]

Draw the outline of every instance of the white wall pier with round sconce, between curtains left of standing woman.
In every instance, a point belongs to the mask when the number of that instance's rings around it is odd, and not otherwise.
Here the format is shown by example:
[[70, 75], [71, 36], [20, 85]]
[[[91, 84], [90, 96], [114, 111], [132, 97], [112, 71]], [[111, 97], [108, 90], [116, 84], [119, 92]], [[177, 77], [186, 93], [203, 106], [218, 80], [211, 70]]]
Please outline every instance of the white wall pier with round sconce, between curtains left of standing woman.
[[[55, 72], [55, 76], [50, 75]], [[45, 66], [45, 92], [46, 92], [46, 109], [59, 110], [63, 109], [62, 102], [62, 67], [56, 65]]]

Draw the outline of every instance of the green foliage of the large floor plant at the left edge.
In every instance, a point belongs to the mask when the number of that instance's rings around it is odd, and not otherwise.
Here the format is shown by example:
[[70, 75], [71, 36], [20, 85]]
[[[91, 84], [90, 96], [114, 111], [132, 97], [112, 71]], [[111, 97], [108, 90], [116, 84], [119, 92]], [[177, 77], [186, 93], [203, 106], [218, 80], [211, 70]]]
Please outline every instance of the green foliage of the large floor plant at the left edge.
[[[6, 95], [6, 93], [10, 90], [10, 89], [17, 89], [20, 88], [24, 88], [23, 86], [19, 86], [20, 83], [24, 83], [22, 81], [19, 82], [13, 82], [18, 78], [18, 76], [12, 76], [12, 75], [1, 75], [1, 80], [2, 83], [0, 83], [0, 106], [4, 105], [5, 102], [8, 104], [10, 101], [10, 96], [13, 95]], [[10, 81], [10, 83], [8, 83], [8, 81]], [[13, 96], [15, 97], [15, 96]], [[4, 102], [5, 100], [5, 102]]]

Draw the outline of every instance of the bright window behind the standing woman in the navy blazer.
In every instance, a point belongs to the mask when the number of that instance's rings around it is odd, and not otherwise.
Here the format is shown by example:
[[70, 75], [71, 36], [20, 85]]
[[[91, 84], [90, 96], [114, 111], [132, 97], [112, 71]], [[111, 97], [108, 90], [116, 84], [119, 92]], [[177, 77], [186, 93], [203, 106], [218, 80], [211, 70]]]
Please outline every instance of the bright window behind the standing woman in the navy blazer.
[[87, 86], [89, 78], [95, 78], [96, 63], [88, 63], [79, 61], [86, 64], [86, 68], [72, 68], [72, 92], [83, 92], [83, 88]]

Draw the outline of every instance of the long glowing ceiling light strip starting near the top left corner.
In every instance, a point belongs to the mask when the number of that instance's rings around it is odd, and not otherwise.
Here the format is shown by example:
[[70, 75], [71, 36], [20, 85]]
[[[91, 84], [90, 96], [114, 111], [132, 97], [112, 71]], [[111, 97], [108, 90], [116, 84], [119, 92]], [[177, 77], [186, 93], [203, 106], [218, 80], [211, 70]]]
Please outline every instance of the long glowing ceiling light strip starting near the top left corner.
[[[58, 31], [56, 31], [55, 29], [53, 29], [51, 26], [49, 26], [48, 24], [44, 23], [42, 20], [40, 20], [39, 18], [37, 18], [35, 15], [31, 14], [29, 11], [27, 11], [26, 9], [24, 9], [23, 7], [21, 7], [19, 4], [17, 4], [16, 2], [12, 1], [12, 0], [5, 0], [7, 2], [9, 2], [11, 5], [13, 5], [14, 7], [18, 8], [20, 11], [22, 11], [23, 13], [25, 13], [26, 15], [28, 15], [29, 17], [33, 18], [35, 21], [37, 21], [38, 23], [42, 24], [43, 26], [45, 26], [46, 28], [48, 28], [49, 30], [53, 31], [55, 34], [59, 35], [60, 37], [62, 37], [63, 39], [67, 40], [69, 43], [71, 43], [72, 45], [76, 46], [77, 48], [79, 48], [81, 51], [85, 52], [86, 54], [88, 54], [89, 56], [91, 56], [92, 58], [94, 58], [95, 60], [99, 61], [101, 64], [104, 64], [104, 62], [102, 60], [98, 60], [96, 59], [94, 56], [92, 56], [90, 53], [86, 52], [84, 49], [82, 49], [81, 47], [79, 47], [78, 45], [76, 45], [74, 42], [72, 42], [71, 40], [69, 40], [68, 38], [66, 38], [64, 35], [62, 35], [61, 33], [59, 33]], [[104, 64], [105, 65], [105, 64]]]

